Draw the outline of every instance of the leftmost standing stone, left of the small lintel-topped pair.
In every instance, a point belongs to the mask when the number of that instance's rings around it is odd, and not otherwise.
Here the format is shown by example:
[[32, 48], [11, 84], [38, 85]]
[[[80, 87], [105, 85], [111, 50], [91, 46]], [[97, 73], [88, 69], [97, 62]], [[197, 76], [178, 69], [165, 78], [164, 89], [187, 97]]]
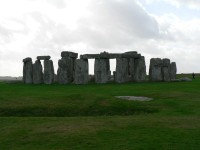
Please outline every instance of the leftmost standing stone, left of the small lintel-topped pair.
[[31, 58], [23, 59], [24, 67], [23, 67], [23, 82], [25, 84], [33, 83], [33, 63]]

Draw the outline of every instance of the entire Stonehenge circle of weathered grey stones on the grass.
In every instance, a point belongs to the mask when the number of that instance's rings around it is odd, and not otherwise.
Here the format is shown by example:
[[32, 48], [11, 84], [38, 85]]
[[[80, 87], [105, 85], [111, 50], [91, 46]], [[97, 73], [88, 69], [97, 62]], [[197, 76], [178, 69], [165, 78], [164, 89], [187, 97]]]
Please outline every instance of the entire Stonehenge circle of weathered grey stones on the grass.
[[[50, 56], [37, 56], [33, 64], [32, 58], [23, 59], [23, 82], [25, 84], [88, 84], [88, 59], [94, 59], [94, 81], [102, 84], [114, 81], [116, 83], [146, 81], [145, 57], [136, 51], [125, 53], [83, 54], [63, 51], [58, 60], [57, 74], [54, 73], [53, 61]], [[110, 59], [116, 59], [116, 68], [113, 75], [110, 70]], [[43, 61], [43, 65], [41, 63]], [[176, 63], [170, 63], [165, 58], [152, 58], [149, 67], [149, 81], [171, 81], [176, 79]]]

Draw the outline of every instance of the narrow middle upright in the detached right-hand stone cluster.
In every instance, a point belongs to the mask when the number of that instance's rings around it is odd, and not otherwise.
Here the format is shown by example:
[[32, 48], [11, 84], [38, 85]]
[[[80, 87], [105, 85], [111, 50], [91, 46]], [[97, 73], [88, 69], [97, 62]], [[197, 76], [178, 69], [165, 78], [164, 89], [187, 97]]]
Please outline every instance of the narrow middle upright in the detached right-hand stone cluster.
[[170, 81], [170, 60], [165, 58], [162, 60], [163, 81]]

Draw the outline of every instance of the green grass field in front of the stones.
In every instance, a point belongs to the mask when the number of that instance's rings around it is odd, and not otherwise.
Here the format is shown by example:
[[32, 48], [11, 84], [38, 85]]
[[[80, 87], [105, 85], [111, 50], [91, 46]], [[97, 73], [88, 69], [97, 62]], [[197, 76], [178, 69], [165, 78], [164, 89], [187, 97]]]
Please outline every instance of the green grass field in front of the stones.
[[[138, 102], [115, 96], [146, 96]], [[200, 78], [192, 82], [0, 83], [0, 150], [200, 149]]]

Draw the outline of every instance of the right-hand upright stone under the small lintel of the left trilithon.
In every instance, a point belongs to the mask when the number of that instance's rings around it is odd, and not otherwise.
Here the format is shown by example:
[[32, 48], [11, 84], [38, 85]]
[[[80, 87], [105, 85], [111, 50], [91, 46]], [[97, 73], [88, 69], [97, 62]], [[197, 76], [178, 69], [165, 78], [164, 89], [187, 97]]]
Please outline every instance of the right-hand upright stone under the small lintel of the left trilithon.
[[44, 84], [52, 84], [54, 81], [54, 67], [52, 60], [44, 60]]

